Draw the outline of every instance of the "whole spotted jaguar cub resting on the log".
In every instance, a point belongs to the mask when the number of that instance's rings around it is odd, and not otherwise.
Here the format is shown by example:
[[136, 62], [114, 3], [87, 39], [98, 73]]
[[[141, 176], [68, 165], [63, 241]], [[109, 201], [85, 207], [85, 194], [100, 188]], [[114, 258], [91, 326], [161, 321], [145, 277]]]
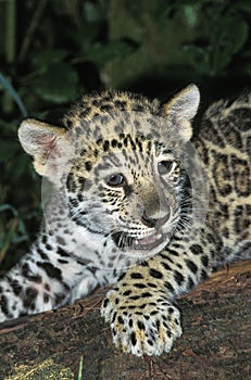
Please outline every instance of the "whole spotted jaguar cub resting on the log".
[[171, 350], [174, 299], [251, 257], [251, 97], [213, 104], [191, 139], [199, 98], [194, 85], [167, 104], [106, 91], [83, 97], [62, 127], [22, 123], [45, 221], [0, 282], [1, 321], [116, 283], [101, 308], [114, 343], [138, 356]]

